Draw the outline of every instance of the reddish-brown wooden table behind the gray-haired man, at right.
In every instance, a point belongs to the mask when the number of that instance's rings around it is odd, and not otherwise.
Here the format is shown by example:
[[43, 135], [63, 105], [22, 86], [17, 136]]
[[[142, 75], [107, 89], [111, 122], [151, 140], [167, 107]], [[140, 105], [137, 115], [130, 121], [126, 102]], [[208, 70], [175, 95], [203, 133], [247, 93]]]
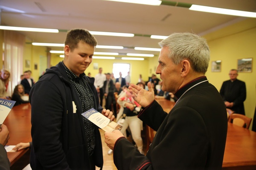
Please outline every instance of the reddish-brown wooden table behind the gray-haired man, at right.
[[[175, 104], [162, 98], [156, 101], [167, 113]], [[256, 132], [228, 122], [222, 167], [225, 170], [256, 170]]]

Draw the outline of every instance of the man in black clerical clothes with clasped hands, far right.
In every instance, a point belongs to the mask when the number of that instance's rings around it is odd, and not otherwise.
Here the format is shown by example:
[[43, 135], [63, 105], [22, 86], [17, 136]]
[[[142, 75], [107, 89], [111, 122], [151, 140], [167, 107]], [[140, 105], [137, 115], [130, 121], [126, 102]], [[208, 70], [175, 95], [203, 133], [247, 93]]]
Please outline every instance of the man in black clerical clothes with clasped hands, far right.
[[245, 82], [237, 79], [238, 73], [236, 69], [229, 71], [230, 80], [223, 82], [221, 94], [227, 108], [238, 114], [245, 115], [244, 101], [246, 99]]

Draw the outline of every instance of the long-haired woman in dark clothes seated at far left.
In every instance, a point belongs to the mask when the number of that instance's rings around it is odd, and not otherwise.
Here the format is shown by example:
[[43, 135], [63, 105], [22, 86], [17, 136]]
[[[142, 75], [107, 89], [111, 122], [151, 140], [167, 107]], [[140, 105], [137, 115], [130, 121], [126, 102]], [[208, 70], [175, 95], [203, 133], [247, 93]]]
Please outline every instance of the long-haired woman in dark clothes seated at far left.
[[23, 85], [18, 84], [15, 86], [11, 98], [13, 101], [16, 101], [14, 106], [20, 105], [22, 103], [29, 103], [29, 100], [25, 100], [26, 97], [28, 98], [28, 96], [25, 95]]

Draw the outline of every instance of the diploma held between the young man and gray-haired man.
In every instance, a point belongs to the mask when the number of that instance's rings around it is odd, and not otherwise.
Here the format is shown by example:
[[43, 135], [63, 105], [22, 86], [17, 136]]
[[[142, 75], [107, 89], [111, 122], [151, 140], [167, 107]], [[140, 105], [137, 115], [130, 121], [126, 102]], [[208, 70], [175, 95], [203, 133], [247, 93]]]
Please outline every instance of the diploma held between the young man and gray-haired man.
[[121, 130], [123, 126], [117, 124], [116, 122], [110, 120], [109, 118], [105, 117], [94, 108], [82, 113], [82, 115], [97, 125], [99, 128], [104, 130], [105, 132], [112, 132], [114, 130]]

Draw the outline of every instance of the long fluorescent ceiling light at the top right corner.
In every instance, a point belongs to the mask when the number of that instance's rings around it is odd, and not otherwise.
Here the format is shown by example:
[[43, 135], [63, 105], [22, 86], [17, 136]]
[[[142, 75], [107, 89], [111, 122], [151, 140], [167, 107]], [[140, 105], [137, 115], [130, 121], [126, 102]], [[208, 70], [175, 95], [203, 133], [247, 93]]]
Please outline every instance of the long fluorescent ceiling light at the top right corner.
[[216, 7], [201, 6], [201, 5], [192, 5], [189, 8], [189, 10], [256, 18], [255, 12], [229, 10], [229, 9], [224, 9], [224, 8], [216, 8]]

